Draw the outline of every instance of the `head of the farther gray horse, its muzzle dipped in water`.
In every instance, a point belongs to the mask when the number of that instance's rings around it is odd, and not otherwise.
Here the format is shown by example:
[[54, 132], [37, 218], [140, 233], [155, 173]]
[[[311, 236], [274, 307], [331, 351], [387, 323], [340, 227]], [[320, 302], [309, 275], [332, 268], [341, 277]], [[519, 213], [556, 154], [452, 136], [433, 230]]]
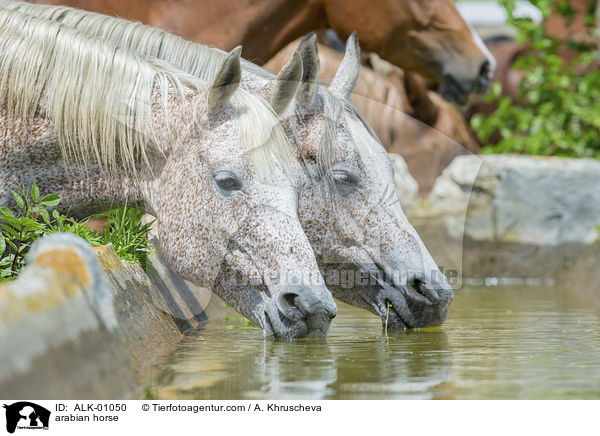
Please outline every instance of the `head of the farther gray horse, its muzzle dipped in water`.
[[442, 323], [452, 289], [402, 211], [385, 149], [348, 101], [360, 66], [356, 35], [329, 88], [314, 86], [316, 38], [298, 52], [304, 95], [284, 125], [302, 139], [308, 177], [299, 216], [329, 289], [388, 327]]

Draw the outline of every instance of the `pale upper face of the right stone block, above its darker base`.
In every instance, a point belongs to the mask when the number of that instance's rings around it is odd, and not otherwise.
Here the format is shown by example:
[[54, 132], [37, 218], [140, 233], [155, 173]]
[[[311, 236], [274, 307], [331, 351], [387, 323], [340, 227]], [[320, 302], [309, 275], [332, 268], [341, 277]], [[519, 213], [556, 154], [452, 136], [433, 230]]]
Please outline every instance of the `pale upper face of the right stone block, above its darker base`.
[[[465, 235], [558, 247], [593, 244], [600, 224], [600, 162], [532, 156], [459, 156], [429, 197], [461, 216]], [[456, 229], [455, 229], [456, 230]]]

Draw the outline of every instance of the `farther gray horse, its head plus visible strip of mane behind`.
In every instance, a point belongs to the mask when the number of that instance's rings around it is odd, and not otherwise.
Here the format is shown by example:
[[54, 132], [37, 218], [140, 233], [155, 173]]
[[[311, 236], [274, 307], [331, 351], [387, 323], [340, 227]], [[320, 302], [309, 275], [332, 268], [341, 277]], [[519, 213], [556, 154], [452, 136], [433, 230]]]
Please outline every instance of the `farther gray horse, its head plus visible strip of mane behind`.
[[[157, 56], [205, 80], [214, 77], [226, 56], [141, 23], [67, 7], [18, 7]], [[270, 99], [298, 147], [307, 176], [299, 216], [329, 289], [337, 298], [378, 314], [390, 328], [440, 324], [452, 289], [402, 211], [385, 149], [349, 102], [360, 68], [356, 37], [350, 37], [329, 88], [319, 86], [314, 36], [305, 38], [296, 55], [303, 74], [292, 104], [270, 89], [274, 83], [294, 82], [296, 56], [279, 80], [242, 61], [241, 86]]]

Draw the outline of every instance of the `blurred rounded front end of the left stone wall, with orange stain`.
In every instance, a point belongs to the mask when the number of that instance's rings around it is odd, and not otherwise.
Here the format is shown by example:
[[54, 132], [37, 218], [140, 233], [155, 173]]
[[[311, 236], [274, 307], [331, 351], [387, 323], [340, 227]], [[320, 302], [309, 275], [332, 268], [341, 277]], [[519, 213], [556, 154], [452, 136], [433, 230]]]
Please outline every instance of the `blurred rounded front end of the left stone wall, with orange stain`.
[[117, 327], [108, 283], [87, 242], [67, 234], [42, 239], [21, 276], [0, 288], [2, 397], [125, 395], [136, 376], [115, 340]]

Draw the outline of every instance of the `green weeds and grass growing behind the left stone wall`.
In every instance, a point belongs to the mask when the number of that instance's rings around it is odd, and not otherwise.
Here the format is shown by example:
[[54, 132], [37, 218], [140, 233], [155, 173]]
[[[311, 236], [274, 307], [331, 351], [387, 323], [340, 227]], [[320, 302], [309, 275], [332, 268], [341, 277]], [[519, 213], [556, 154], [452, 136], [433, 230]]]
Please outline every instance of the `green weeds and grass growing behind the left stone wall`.
[[148, 255], [148, 230], [152, 223], [142, 224], [143, 212], [123, 207], [98, 217], [106, 217], [104, 235], [87, 227], [89, 219], [75, 220], [54, 208], [60, 203], [56, 194], [40, 198], [38, 186], [30, 190], [18, 187], [12, 191], [19, 210], [0, 208], [0, 280], [16, 277], [25, 264], [31, 244], [44, 235], [56, 232], [73, 233], [91, 246], [112, 244], [123, 260], [144, 264]]

